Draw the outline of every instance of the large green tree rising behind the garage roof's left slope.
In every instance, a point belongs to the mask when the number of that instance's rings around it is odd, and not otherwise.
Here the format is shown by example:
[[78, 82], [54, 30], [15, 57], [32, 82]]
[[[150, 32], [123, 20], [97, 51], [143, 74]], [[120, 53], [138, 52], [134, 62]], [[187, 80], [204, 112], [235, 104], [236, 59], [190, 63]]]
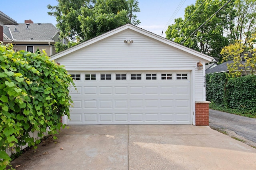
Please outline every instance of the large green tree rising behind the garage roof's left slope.
[[137, 0], [58, 0], [57, 6], [48, 5], [50, 16], [55, 16], [60, 36], [76, 40], [68, 45], [56, 43], [62, 51], [80, 42], [99, 36], [126, 23], [140, 24], [135, 12], [140, 12]]

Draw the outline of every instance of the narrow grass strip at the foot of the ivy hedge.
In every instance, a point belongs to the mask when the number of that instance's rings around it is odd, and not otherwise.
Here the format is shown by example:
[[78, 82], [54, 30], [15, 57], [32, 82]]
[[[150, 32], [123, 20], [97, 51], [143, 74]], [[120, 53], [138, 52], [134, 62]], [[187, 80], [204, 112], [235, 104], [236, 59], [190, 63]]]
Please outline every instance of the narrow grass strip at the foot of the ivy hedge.
[[210, 103], [209, 108], [213, 109], [213, 110], [217, 110], [217, 111], [222, 111], [222, 112], [226, 112], [226, 113], [231, 113], [231, 114], [235, 114], [235, 115], [244, 116], [244, 117], [256, 118], [256, 111], [254, 111], [254, 110], [231, 109], [231, 108], [227, 108], [227, 107], [217, 105], [213, 102]]

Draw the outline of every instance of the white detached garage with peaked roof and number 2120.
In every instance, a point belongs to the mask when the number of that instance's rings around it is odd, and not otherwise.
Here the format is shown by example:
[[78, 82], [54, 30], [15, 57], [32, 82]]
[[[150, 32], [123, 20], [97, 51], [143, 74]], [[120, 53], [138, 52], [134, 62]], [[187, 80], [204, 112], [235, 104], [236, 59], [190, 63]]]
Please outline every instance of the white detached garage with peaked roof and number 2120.
[[76, 84], [68, 125], [196, 125], [195, 103], [208, 106], [197, 63], [212, 58], [132, 24], [51, 58]]

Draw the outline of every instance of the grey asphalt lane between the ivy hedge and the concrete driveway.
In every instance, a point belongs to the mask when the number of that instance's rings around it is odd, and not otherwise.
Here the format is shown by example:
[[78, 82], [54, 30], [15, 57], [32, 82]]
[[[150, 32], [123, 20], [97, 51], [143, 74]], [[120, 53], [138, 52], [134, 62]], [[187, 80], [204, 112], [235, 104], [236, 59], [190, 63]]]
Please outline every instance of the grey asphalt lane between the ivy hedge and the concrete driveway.
[[256, 143], [256, 119], [209, 109], [209, 126], [231, 130]]

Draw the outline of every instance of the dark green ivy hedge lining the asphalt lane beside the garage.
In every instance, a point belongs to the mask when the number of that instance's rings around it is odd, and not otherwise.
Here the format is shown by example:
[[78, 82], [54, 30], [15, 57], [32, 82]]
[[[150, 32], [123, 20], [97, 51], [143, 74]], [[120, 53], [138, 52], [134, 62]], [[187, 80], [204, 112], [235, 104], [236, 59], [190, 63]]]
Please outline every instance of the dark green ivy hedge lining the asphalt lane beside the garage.
[[225, 73], [206, 75], [206, 100], [212, 102], [210, 108], [256, 117], [256, 76], [226, 77]]

